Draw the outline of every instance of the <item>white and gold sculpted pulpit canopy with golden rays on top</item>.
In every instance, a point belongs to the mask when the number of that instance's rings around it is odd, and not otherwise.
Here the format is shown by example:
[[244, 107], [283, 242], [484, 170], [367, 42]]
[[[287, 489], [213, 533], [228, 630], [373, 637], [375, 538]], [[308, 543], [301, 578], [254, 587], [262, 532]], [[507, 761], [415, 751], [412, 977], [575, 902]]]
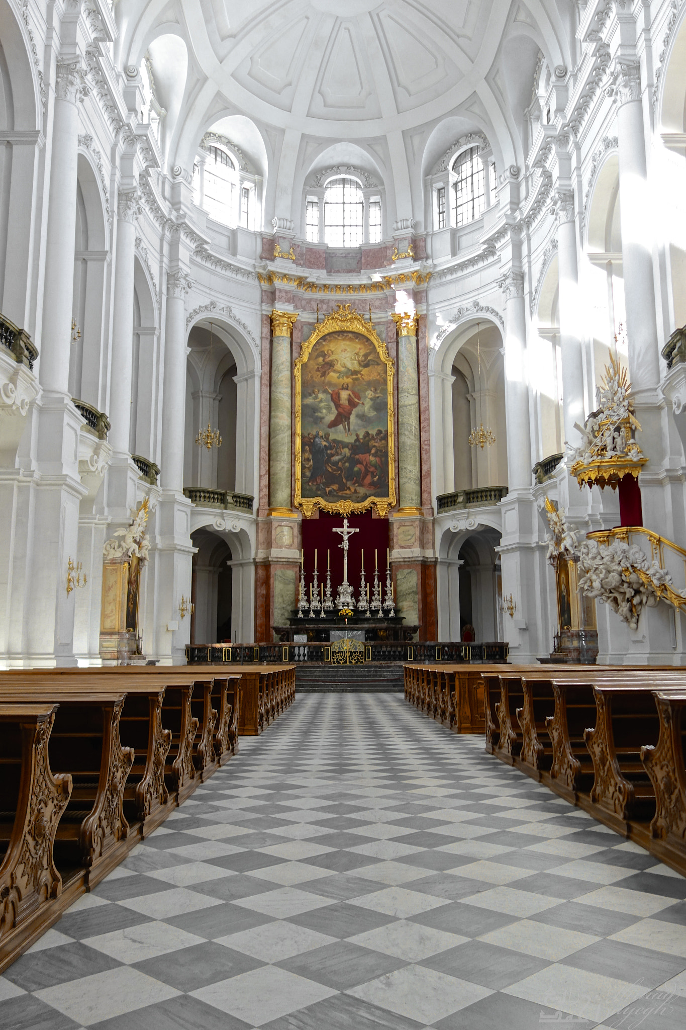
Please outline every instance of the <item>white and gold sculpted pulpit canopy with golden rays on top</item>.
[[626, 371], [612, 354], [597, 389], [595, 403], [597, 411], [590, 413], [583, 425], [574, 423], [581, 443], [570, 448], [570, 472], [579, 486], [585, 483], [615, 489], [623, 476], [638, 477], [648, 458], [634, 439], [641, 425], [634, 415]]

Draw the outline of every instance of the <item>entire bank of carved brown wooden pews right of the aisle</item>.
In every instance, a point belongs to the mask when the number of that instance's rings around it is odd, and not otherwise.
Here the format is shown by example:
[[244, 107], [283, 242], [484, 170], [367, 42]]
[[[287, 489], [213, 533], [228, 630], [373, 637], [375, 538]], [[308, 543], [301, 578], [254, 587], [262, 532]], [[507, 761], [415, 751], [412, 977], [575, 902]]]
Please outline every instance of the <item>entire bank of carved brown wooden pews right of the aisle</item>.
[[[686, 670], [405, 664], [405, 697], [686, 876]], [[467, 729], [466, 731], [470, 731]]]

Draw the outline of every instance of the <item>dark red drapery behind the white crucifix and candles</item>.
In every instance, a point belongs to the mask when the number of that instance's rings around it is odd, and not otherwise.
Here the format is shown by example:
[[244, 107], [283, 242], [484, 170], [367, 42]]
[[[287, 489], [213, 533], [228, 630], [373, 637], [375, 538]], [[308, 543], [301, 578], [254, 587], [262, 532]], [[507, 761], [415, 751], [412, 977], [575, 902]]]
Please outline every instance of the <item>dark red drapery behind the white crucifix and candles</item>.
[[[319, 582], [326, 588], [327, 552], [331, 560], [331, 594], [335, 600], [336, 590], [342, 582], [342, 548], [340, 534], [334, 533], [334, 526], [342, 527], [341, 515], [330, 515], [320, 512], [319, 518], [302, 519], [302, 550], [304, 551], [304, 578], [308, 597], [310, 584], [315, 570], [315, 549], [317, 550], [317, 572]], [[382, 599], [386, 589], [386, 557], [389, 546], [389, 522], [387, 518], [372, 518], [371, 512], [364, 515], [349, 515], [348, 524], [358, 533], [349, 538], [348, 546], [348, 582], [355, 590], [355, 599], [360, 593], [360, 572], [362, 569], [362, 551], [364, 550], [364, 574], [369, 583], [369, 595], [374, 584], [374, 551], [378, 561], [378, 580], [382, 588]]]

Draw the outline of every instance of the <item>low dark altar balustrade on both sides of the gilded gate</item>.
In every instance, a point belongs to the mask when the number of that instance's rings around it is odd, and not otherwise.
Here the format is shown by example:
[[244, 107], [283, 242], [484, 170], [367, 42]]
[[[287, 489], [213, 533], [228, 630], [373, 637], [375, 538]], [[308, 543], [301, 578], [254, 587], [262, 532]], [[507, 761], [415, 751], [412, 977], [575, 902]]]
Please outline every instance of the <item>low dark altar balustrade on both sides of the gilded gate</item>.
[[[486, 644], [401, 643], [375, 641], [364, 645], [364, 660], [374, 662], [507, 662], [504, 641]], [[331, 662], [330, 644], [188, 644], [189, 665], [198, 662], [247, 665], [256, 662]]]

